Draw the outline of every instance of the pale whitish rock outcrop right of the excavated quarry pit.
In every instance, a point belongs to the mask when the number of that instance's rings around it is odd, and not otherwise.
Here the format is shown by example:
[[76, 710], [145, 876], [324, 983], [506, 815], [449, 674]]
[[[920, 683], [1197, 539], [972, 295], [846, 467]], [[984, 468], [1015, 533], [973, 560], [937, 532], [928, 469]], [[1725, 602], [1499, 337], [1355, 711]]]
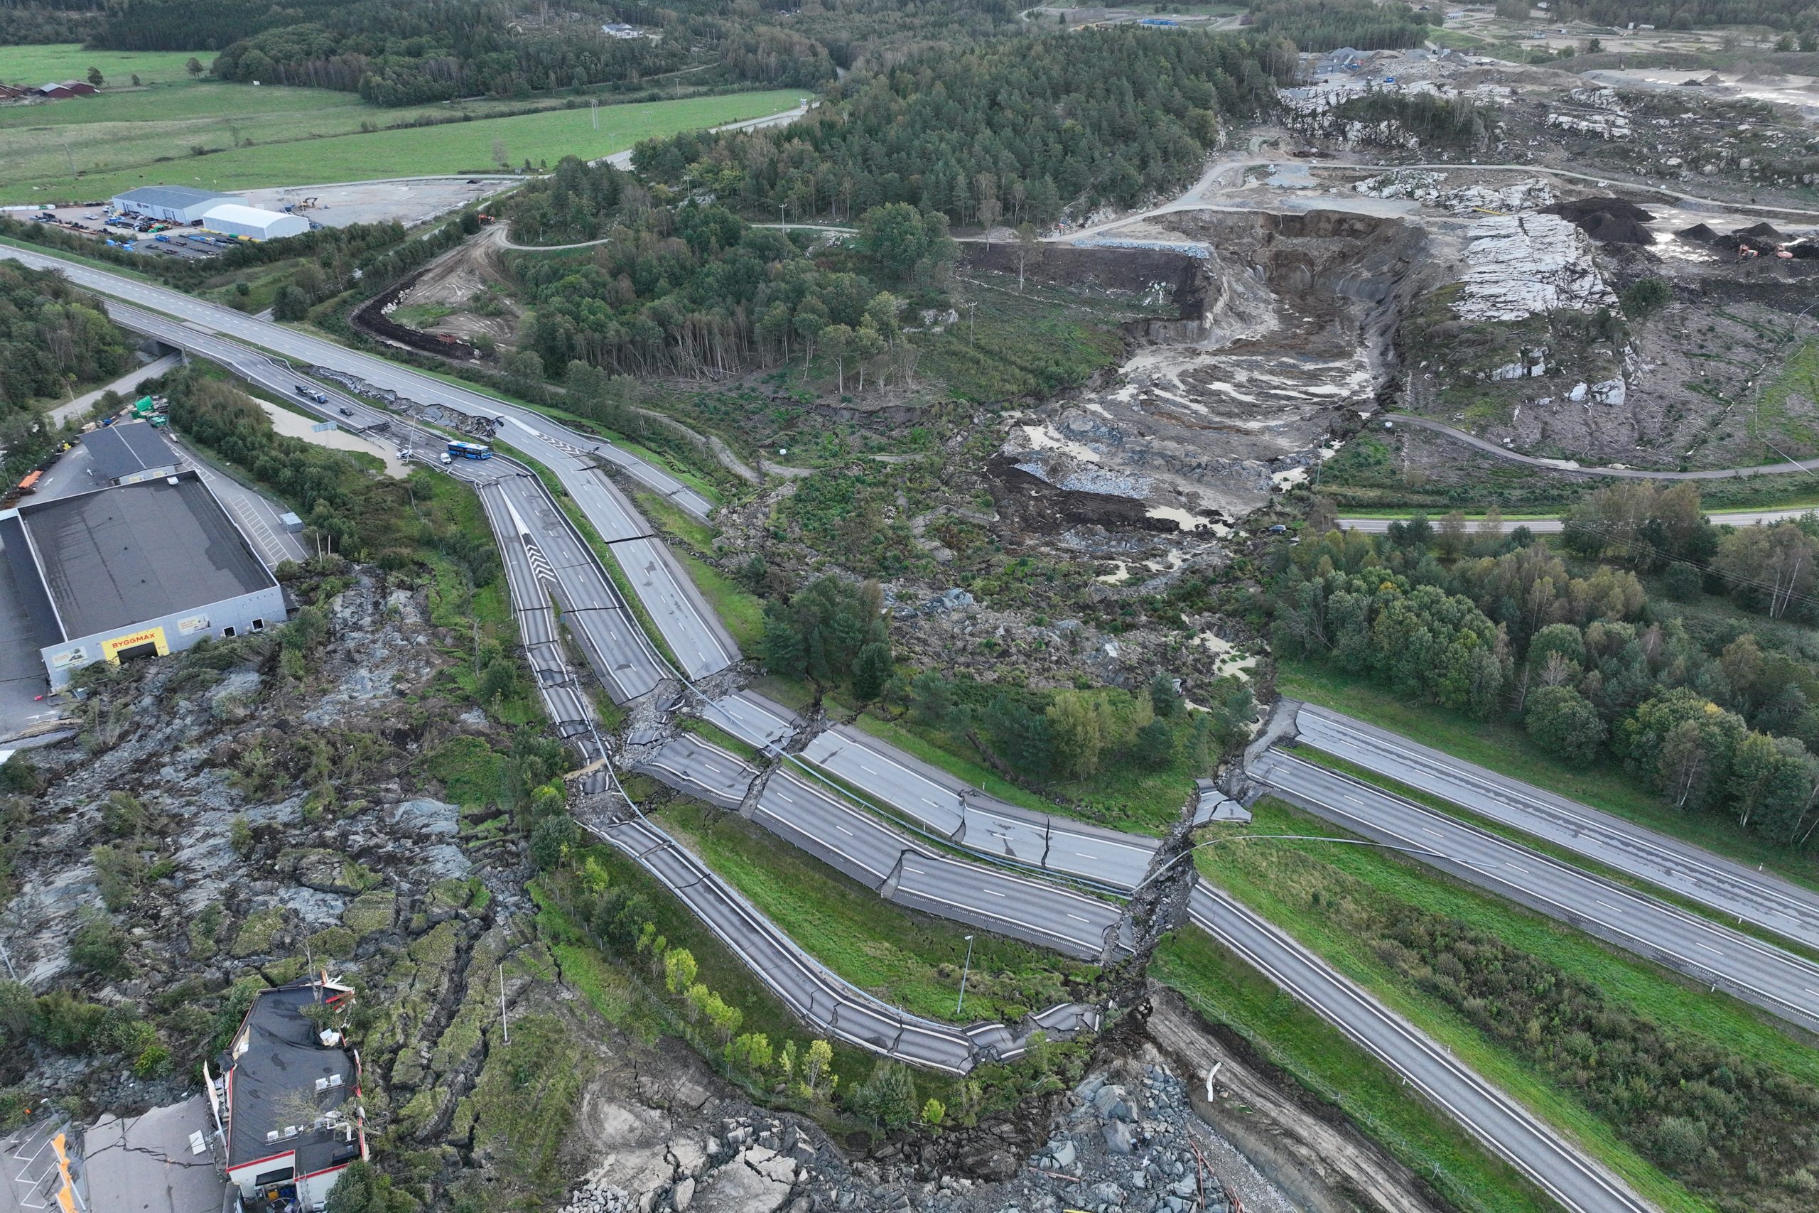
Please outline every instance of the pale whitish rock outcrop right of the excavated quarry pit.
[[1490, 215], [1472, 224], [1455, 311], [1464, 320], [1523, 320], [1544, 311], [1615, 307], [1592, 242], [1559, 215]]

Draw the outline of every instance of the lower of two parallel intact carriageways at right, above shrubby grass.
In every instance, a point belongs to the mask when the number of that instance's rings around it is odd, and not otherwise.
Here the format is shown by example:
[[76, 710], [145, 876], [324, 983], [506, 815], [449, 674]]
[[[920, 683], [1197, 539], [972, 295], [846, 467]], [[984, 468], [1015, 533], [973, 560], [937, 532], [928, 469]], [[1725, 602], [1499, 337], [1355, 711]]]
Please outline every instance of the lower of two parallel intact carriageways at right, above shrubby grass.
[[1819, 966], [1803, 957], [1281, 749], [1248, 769], [1317, 817], [1819, 1031]]

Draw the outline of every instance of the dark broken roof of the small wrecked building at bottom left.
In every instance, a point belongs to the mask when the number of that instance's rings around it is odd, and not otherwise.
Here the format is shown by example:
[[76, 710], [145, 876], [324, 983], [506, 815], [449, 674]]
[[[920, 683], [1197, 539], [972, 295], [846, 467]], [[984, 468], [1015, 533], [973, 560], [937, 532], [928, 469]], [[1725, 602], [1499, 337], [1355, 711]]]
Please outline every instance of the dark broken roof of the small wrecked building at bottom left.
[[[324, 997], [335, 991], [326, 989]], [[320, 1117], [347, 1102], [353, 1095], [353, 1058], [346, 1049], [317, 1040], [317, 1028], [304, 1018], [302, 1009], [317, 1000], [315, 982], [296, 982], [278, 989], [262, 989], [246, 1017], [247, 1046], [240, 1057], [224, 1057], [231, 1084], [231, 1120], [227, 1122], [227, 1169], [242, 1168], [276, 1153], [296, 1151], [296, 1173], [309, 1175], [347, 1162], [358, 1155], [358, 1146], [333, 1131], [298, 1124], [300, 1102], [315, 1104]], [[238, 1042], [238, 1037], [236, 1037]], [[340, 1077], [340, 1082], [317, 1091], [318, 1078]], [[298, 1100], [296, 1097], [304, 1097]], [[289, 1097], [289, 1098], [287, 1098]], [[286, 1137], [287, 1128], [302, 1129]], [[278, 1131], [276, 1142], [266, 1133]]]

